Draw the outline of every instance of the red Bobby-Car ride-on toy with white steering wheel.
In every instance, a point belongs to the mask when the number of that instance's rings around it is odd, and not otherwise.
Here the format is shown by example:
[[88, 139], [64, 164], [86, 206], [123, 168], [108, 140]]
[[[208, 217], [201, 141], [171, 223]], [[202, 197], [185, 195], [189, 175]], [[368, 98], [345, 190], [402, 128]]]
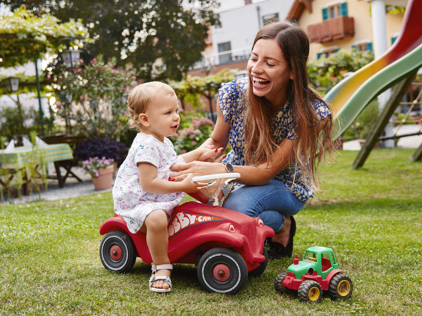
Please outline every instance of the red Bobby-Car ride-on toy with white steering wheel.
[[[264, 241], [274, 236], [274, 231], [258, 217], [218, 206], [216, 192], [237, 177], [240, 174], [194, 177], [194, 181], [216, 180], [205, 190], [214, 205], [181, 204], [174, 209], [168, 226], [170, 262], [195, 263], [199, 282], [209, 292], [239, 292], [248, 273], [260, 275], [268, 262]], [[130, 233], [121, 216], [114, 214], [106, 220], [100, 227], [100, 234], [105, 235], [100, 244], [100, 258], [106, 269], [129, 272], [136, 257], [146, 263], [152, 262], [146, 233]]]

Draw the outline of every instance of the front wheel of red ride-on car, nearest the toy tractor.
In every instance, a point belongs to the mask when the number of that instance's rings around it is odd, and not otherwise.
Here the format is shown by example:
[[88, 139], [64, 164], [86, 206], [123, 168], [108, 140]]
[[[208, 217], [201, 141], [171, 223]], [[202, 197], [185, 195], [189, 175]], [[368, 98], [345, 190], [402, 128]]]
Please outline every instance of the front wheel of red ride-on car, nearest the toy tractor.
[[248, 279], [248, 267], [237, 252], [227, 248], [213, 248], [199, 260], [197, 275], [206, 291], [235, 294]]

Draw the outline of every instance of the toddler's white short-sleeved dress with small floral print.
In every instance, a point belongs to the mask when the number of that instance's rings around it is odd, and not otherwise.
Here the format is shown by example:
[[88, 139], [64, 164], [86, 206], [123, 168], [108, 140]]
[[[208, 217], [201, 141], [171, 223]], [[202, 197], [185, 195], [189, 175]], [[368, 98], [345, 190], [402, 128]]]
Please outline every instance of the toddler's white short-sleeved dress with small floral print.
[[[139, 162], [148, 162], [157, 167], [157, 177], [168, 179], [170, 166], [185, 163], [178, 157], [170, 140], [164, 143], [151, 135], [138, 133], [129, 153], [117, 172], [113, 187], [114, 212], [124, 218], [131, 233], [136, 233], [146, 216], [156, 209], [162, 209], [168, 217], [175, 206], [184, 198], [184, 193], [154, 194], [142, 189], [139, 182]], [[141, 175], [142, 177], [142, 175]]]

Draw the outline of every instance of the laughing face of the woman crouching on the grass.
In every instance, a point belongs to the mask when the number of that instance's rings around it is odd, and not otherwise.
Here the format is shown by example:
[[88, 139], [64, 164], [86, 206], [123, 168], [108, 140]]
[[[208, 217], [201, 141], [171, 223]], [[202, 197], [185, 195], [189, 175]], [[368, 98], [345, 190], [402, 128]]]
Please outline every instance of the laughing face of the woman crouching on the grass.
[[257, 40], [248, 61], [248, 72], [254, 94], [264, 96], [273, 105], [279, 105], [277, 101], [286, 96], [292, 70], [276, 40]]

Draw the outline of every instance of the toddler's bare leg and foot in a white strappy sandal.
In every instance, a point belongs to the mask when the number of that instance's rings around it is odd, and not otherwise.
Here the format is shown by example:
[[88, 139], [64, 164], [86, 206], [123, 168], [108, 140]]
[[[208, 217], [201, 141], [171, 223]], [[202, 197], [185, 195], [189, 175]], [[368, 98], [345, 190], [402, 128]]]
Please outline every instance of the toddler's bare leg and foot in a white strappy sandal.
[[[146, 229], [145, 229], [146, 228]], [[156, 209], [149, 213], [141, 230], [146, 230], [146, 244], [152, 257], [152, 262], [156, 265], [170, 263], [168, 259], [168, 231], [167, 214], [162, 209]], [[157, 270], [156, 276], [170, 276], [170, 270]], [[152, 287], [168, 289], [170, 286], [158, 280]]]

